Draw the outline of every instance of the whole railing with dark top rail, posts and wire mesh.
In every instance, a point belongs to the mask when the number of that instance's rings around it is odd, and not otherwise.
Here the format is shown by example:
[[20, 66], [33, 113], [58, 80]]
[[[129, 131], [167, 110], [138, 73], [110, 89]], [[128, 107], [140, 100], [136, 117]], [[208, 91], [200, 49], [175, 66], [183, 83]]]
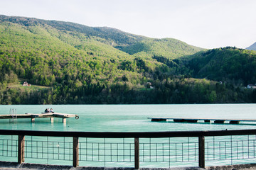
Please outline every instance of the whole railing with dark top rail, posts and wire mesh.
[[[167, 164], [252, 159], [256, 130], [181, 132], [53, 132], [0, 130], [0, 157], [73, 162]], [[26, 138], [25, 138], [26, 137]]]

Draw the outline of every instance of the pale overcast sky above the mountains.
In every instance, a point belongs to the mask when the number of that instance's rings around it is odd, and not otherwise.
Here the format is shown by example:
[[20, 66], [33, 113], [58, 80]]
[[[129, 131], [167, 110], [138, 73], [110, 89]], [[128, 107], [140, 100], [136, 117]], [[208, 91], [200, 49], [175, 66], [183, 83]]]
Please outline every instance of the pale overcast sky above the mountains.
[[256, 0], [0, 0], [0, 14], [107, 26], [204, 48], [256, 42]]

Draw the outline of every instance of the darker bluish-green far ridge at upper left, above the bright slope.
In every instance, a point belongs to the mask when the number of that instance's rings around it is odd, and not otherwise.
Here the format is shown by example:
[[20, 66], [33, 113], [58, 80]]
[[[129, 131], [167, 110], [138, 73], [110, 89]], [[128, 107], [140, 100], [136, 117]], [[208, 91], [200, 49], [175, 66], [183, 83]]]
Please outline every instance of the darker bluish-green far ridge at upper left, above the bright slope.
[[78, 23], [70, 23], [63, 21], [46, 21], [37, 18], [26, 18], [18, 16], [3, 16], [0, 15], [1, 22], [17, 23], [21, 26], [50, 26], [60, 31], [68, 31], [73, 33], [81, 33], [90, 37], [98, 37], [105, 39], [107, 44], [112, 46], [131, 45], [139, 40], [143, 40], [144, 37], [140, 35], [133, 35], [125, 33], [121, 30], [107, 27], [89, 27]]

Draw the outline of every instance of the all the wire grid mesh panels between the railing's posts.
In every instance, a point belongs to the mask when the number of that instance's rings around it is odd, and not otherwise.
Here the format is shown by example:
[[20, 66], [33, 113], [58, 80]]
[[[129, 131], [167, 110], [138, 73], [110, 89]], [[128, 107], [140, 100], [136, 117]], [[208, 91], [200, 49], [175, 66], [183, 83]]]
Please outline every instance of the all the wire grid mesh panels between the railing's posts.
[[[208, 162], [233, 164], [256, 157], [256, 135], [206, 137]], [[0, 136], [0, 157], [18, 157], [18, 137]], [[25, 137], [25, 158], [73, 160], [73, 137]], [[79, 162], [134, 163], [133, 138], [79, 138]], [[140, 138], [139, 162], [198, 162], [198, 137]], [[157, 165], [156, 165], [157, 166]]]

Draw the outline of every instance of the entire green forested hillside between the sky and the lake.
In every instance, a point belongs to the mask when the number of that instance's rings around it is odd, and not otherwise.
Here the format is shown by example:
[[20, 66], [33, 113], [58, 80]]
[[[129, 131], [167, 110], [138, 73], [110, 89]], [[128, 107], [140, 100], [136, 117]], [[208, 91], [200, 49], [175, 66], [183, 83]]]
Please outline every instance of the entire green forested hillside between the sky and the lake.
[[0, 16], [1, 104], [250, 103], [253, 67], [250, 50]]

